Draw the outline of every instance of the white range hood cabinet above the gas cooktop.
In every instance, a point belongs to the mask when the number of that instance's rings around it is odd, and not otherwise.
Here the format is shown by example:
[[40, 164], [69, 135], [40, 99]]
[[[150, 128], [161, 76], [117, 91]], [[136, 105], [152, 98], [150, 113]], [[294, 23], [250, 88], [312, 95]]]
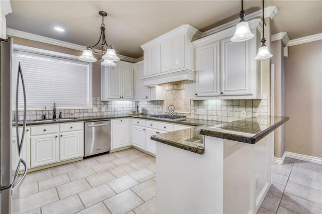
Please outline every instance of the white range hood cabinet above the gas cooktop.
[[201, 32], [191, 25], [182, 25], [141, 45], [144, 51], [144, 85], [181, 80], [194, 80], [194, 47], [191, 41]]

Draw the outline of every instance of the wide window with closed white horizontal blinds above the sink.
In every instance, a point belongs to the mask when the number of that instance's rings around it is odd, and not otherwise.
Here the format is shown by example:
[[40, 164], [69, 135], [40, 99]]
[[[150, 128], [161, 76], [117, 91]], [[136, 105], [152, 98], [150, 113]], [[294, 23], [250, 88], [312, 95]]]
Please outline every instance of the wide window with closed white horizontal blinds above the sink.
[[[25, 80], [27, 110], [92, 108], [92, 63], [76, 56], [16, 45], [13, 51], [13, 91], [17, 84], [20, 62]], [[13, 106], [15, 97], [13, 96]], [[23, 106], [19, 88], [19, 109]]]

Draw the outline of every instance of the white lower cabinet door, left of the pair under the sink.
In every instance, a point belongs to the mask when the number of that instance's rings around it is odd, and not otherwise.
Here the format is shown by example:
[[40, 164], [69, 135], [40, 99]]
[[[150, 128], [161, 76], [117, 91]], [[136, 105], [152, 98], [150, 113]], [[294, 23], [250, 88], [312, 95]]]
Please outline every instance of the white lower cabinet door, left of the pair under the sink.
[[37, 167], [58, 162], [58, 133], [31, 136], [30, 150], [31, 167]]

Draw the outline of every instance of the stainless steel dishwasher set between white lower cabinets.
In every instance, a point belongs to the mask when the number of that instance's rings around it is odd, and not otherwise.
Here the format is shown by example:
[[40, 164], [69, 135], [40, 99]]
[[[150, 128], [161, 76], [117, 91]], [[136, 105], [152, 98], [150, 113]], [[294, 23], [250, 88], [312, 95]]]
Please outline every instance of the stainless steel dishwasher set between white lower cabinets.
[[111, 120], [84, 123], [84, 156], [111, 150]]

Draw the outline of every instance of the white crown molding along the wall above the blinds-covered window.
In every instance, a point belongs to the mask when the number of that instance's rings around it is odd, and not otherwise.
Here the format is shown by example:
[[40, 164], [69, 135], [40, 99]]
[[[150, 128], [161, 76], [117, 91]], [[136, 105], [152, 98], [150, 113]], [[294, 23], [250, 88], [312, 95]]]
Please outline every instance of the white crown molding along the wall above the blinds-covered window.
[[[52, 39], [52, 38], [44, 37], [44, 36], [39, 36], [36, 34], [24, 32], [24, 31], [18, 31], [18, 30], [11, 29], [11, 28], [7, 28], [7, 35], [19, 37], [19, 38], [23, 38], [23, 39], [28, 39], [28, 40], [33, 40], [33, 41], [37, 41], [37, 42], [42, 42], [42, 43], [46, 43], [46, 44], [56, 45], [56, 46], [60, 46], [60, 47], [64, 47], [64, 48], [70, 48], [73, 50], [83, 51], [84, 49], [86, 49], [86, 47], [83, 45], [77, 45], [77, 44], [70, 43], [70, 42], [64, 42], [61, 40]], [[98, 50], [98, 49], [94, 49], [94, 50], [97, 52], [101, 52], [101, 50]], [[97, 54], [97, 53], [94, 53], [94, 54]], [[135, 58], [128, 57], [128, 56], [123, 56], [120, 54], [118, 54], [117, 56], [120, 58], [120, 60], [131, 62], [131, 63], [135, 63], [138, 61], [138, 59], [140, 59], [140, 58], [135, 59]]]

